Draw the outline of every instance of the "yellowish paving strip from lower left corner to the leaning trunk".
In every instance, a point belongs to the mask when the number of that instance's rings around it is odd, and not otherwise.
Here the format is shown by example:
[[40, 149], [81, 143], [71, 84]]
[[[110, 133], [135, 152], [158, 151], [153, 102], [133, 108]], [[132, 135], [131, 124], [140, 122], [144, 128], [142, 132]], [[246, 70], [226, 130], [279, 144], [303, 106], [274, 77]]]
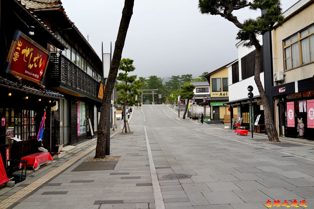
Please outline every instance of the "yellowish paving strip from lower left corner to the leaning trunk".
[[8, 208], [9, 206], [13, 205], [15, 202], [18, 202], [20, 199], [22, 199], [24, 196], [28, 195], [30, 192], [37, 189], [39, 186], [44, 184], [46, 181], [50, 180], [55, 175], [59, 174], [62, 170], [66, 169], [69, 165], [74, 163], [78, 160], [78, 158], [83, 157], [84, 155], [90, 153], [91, 151], [95, 150], [96, 145], [90, 147], [89, 149], [85, 150], [83, 153], [80, 153], [76, 156], [76, 158], [72, 158], [68, 160], [66, 163], [60, 165], [53, 171], [49, 172], [48, 174], [44, 175], [40, 179], [34, 181], [33, 183], [27, 185], [25, 188], [17, 191], [13, 195], [9, 196], [8, 198], [4, 199], [0, 202], [0, 208]]

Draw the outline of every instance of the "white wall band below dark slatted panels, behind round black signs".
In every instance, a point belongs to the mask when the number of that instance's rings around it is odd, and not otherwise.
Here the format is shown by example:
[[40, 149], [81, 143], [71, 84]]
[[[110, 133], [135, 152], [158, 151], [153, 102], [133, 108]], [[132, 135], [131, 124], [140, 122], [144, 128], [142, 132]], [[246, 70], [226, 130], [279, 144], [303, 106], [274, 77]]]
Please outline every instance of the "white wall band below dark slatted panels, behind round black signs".
[[[263, 84], [263, 88], [264, 87], [264, 72], [260, 73], [260, 78], [261, 78], [261, 82]], [[253, 95], [254, 96], [258, 96], [259, 92], [257, 89], [257, 86], [255, 84], [254, 81], [254, 76], [251, 76], [249, 78], [246, 78], [244, 80], [241, 80], [237, 83], [233, 83], [229, 85], [229, 101], [234, 101], [234, 100], [240, 100], [240, 99], [245, 99], [248, 98], [247, 94], [249, 93], [249, 91], [247, 90], [247, 87], [251, 85], [253, 87]]]

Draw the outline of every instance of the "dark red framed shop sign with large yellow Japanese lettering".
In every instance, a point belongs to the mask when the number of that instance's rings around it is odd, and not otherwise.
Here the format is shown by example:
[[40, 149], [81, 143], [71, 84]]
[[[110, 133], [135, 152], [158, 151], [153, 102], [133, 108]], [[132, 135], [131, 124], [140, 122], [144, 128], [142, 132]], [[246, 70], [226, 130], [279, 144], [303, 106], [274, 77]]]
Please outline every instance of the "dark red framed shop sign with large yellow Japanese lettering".
[[6, 60], [6, 72], [41, 83], [45, 77], [49, 57], [49, 51], [16, 30]]

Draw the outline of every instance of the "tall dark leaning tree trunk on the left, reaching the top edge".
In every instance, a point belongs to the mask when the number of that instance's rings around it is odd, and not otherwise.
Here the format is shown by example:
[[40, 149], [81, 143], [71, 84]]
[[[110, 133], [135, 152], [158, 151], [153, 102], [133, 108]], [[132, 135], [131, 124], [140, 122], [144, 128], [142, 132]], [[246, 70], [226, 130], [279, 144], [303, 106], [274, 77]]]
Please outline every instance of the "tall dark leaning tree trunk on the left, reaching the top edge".
[[133, 14], [134, 0], [125, 0], [124, 8], [122, 10], [122, 17], [120, 21], [119, 31], [117, 35], [117, 40], [115, 43], [115, 50], [113, 51], [112, 61], [110, 63], [110, 70], [108, 75], [108, 81], [106, 83], [106, 88], [104, 92], [104, 97], [101, 103], [100, 120], [98, 126], [98, 136], [96, 145], [95, 158], [105, 158], [106, 157], [106, 137], [109, 115], [109, 106], [111, 101], [112, 90], [115, 85], [116, 76], [119, 69], [119, 64], [122, 56], [122, 50], [125, 43], [125, 38], [127, 36], [127, 29], [130, 24], [130, 20]]

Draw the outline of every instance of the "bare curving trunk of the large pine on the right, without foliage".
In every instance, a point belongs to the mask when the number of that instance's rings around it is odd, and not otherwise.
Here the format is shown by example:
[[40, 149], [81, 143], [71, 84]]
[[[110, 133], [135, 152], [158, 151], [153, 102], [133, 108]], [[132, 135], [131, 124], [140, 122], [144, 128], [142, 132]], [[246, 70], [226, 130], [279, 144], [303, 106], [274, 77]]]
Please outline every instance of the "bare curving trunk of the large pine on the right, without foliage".
[[268, 100], [260, 79], [261, 72], [261, 62], [262, 62], [262, 46], [258, 42], [256, 36], [253, 34], [250, 36], [250, 40], [252, 40], [255, 46], [255, 69], [254, 69], [254, 81], [257, 85], [258, 92], [261, 96], [264, 108], [264, 116], [265, 116], [265, 127], [267, 131], [267, 136], [270, 142], [280, 142], [278, 137], [277, 129], [273, 123], [272, 115], [270, 111], [270, 106], [268, 104]]

